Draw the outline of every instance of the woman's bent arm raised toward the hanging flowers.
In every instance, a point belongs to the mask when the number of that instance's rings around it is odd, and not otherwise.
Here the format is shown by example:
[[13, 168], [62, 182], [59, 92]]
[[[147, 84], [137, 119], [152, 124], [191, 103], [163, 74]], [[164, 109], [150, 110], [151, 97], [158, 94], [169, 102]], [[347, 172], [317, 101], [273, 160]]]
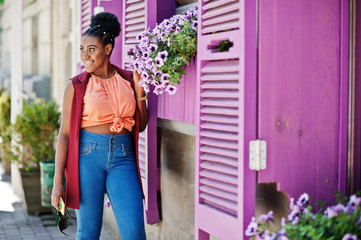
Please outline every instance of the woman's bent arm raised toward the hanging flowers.
[[[137, 71], [133, 72], [133, 79], [134, 79], [134, 91], [135, 97], [141, 98], [145, 96], [145, 92], [143, 88], [139, 85], [141, 77]], [[137, 105], [139, 109], [139, 131], [143, 132], [148, 124], [149, 113], [148, 108], [145, 100], [137, 100]]]

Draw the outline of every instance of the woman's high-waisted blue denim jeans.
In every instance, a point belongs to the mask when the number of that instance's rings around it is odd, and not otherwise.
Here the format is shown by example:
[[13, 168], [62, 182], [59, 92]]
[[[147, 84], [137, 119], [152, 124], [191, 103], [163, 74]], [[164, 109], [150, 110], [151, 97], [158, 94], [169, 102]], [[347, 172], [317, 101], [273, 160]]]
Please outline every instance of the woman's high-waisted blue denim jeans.
[[115, 135], [80, 131], [77, 240], [99, 239], [105, 192], [122, 240], [146, 239], [132, 139], [131, 133]]

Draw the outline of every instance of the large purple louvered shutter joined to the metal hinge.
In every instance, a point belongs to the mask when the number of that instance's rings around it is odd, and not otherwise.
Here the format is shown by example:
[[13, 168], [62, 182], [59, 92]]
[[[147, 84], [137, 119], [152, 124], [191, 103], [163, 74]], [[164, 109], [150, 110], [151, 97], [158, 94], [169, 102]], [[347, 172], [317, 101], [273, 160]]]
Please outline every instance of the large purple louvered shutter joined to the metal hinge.
[[[201, 0], [198, 19], [195, 239], [243, 239], [255, 205], [255, 1]], [[233, 47], [218, 52], [222, 40]]]

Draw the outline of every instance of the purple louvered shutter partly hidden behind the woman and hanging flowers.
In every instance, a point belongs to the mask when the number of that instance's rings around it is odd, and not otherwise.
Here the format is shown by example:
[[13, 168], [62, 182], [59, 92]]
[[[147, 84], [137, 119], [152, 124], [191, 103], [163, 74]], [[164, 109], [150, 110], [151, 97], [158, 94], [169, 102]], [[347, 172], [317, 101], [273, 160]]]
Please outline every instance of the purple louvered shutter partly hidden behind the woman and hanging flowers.
[[[123, 68], [130, 69], [128, 51], [134, 48], [136, 36], [146, 28], [153, 28], [156, 21], [155, 0], [126, 0], [123, 2], [122, 42]], [[144, 208], [147, 223], [159, 222], [157, 205], [157, 101], [148, 95], [149, 122], [139, 135], [139, 164], [145, 194]]]

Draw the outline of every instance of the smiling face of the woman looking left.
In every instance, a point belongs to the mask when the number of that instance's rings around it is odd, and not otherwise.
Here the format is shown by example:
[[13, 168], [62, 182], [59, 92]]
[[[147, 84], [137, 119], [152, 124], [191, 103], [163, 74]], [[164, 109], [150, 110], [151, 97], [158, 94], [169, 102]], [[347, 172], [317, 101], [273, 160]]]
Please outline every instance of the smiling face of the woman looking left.
[[105, 67], [109, 61], [111, 44], [103, 46], [97, 37], [84, 36], [80, 45], [80, 58], [84, 62], [85, 71], [97, 74], [106, 71]]

